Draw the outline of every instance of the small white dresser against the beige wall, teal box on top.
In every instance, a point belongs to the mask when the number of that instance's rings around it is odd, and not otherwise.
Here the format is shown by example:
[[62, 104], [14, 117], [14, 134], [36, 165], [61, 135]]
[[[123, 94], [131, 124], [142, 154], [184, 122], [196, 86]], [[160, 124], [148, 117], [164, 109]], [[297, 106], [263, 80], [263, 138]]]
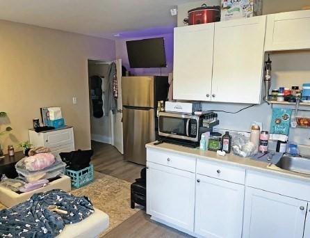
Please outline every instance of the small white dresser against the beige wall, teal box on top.
[[50, 148], [54, 155], [74, 150], [73, 127], [63, 127], [40, 133], [29, 129], [29, 140], [34, 147]]

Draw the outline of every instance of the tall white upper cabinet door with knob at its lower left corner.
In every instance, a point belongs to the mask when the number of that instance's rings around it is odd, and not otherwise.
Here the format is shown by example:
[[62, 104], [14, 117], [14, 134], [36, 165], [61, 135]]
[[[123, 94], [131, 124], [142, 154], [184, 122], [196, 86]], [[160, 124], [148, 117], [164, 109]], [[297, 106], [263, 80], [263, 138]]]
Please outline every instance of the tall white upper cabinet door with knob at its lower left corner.
[[266, 16], [215, 23], [213, 102], [261, 102]]

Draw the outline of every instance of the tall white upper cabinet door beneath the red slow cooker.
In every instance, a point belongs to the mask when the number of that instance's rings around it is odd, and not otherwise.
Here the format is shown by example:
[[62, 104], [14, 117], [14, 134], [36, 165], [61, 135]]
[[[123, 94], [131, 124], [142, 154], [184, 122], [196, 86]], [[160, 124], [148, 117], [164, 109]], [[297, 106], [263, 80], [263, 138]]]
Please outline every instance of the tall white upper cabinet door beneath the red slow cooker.
[[174, 28], [174, 100], [210, 101], [214, 23]]

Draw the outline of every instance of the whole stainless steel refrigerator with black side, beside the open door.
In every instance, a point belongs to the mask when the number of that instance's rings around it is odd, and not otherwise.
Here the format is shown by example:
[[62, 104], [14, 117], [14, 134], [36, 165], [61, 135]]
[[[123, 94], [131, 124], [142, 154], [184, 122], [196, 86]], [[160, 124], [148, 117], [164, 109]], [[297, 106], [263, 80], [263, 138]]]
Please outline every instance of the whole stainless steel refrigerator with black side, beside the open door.
[[124, 159], [146, 164], [145, 144], [156, 140], [157, 102], [168, 96], [168, 77], [122, 77]]

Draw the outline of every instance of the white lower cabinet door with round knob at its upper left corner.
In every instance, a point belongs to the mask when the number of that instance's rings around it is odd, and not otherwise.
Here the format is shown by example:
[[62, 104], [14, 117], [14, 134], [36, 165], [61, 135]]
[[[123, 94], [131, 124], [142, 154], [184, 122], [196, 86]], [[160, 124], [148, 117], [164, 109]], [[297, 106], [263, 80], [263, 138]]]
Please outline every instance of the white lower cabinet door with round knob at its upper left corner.
[[195, 233], [209, 238], [241, 237], [245, 187], [197, 175]]

